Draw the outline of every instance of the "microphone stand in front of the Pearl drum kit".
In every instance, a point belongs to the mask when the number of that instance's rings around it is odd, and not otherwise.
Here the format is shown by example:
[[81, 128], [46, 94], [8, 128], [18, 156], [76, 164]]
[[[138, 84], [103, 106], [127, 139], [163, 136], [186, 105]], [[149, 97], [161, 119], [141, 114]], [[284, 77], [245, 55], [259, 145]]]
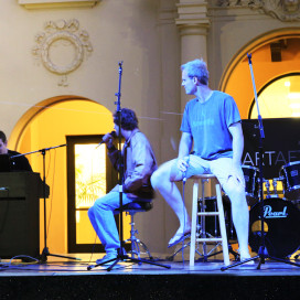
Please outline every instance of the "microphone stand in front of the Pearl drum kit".
[[261, 264], [265, 264], [266, 262], [266, 258], [270, 258], [275, 261], [279, 261], [279, 262], [285, 262], [285, 264], [289, 264], [289, 265], [293, 265], [293, 266], [297, 266], [297, 267], [300, 267], [299, 264], [296, 264], [296, 262], [292, 262], [290, 260], [287, 260], [287, 259], [281, 259], [281, 258], [278, 258], [278, 257], [274, 257], [274, 256], [270, 256], [268, 254], [268, 249], [266, 247], [266, 235], [265, 235], [265, 215], [264, 215], [264, 180], [262, 180], [262, 159], [264, 159], [264, 147], [262, 147], [262, 141], [265, 139], [265, 132], [264, 132], [264, 126], [262, 126], [262, 118], [261, 118], [261, 115], [260, 115], [260, 111], [259, 111], [259, 105], [258, 105], [258, 99], [257, 99], [257, 93], [256, 93], [256, 86], [255, 86], [255, 79], [254, 79], [254, 73], [253, 73], [253, 63], [251, 63], [251, 54], [247, 54], [247, 57], [248, 57], [248, 63], [249, 63], [249, 68], [250, 68], [250, 73], [251, 73], [251, 81], [253, 81], [253, 86], [254, 86], [254, 94], [255, 94], [255, 101], [256, 101], [256, 107], [257, 107], [257, 114], [258, 114], [258, 127], [259, 127], [259, 146], [258, 146], [258, 149], [259, 149], [259, 160], [258, 160], [258, 165], [259, 165], [259, 202], [258, 202], [258, 205], [259, 205], [259, 213], [260, 213], [260, 247], [258, 249], [258, 255], [257, 256], [254, 256], [251, 258], [248, 258], [248, 259], [245, 259], [240, 262], [237, 262], [237, 264], [234, 264], [234, 265], [231, 265], [231, 266], [227, 266], [227, 267], [222, 267], [221, 270], [222, 271], [225, 271], [229, 268], [233, 268], [235, 266], [239, 266], [239, 265], [243, 265], [243, 264], [247, 264], [248, 261], [251, 261], [251, 260], [255, 260], [255, 259], [259, 259], [259, 262], [258, 262], [258, 266], [257, 266], [257, 269], [259, 270], [260, 269], [260, 266]]

